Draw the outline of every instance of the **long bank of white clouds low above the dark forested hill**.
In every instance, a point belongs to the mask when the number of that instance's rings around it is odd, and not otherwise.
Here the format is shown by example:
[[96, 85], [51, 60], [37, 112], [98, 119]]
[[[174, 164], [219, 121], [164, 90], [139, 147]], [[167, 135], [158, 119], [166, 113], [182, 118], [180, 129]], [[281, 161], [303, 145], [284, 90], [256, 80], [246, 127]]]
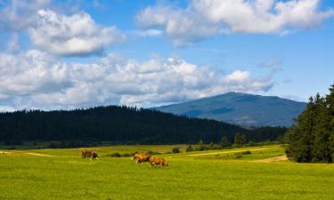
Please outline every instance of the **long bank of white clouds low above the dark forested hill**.
[[216, 74], [176, 58], [137, 61], [109, 54], [82, 64], [59, 61], [38, 50], [1, 53], [0, 78], [2, 109], [152, 107], [230, 91], [267, 91], [273, 86], [271, 77], [254, 77], [248, 71]]

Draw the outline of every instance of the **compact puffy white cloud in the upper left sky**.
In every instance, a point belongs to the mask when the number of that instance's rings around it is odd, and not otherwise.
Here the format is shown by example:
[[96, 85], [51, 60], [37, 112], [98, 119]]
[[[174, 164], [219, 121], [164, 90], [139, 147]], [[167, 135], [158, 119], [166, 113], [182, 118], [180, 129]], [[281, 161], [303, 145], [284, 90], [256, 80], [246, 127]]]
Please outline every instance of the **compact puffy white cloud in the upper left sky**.
[[106, 46], [124, 41], [115, 27], [97, 25], [85, 12], [71, 16], [51, 10], [38, 11], [37, 25], [29, 28], [33, 44], [61, 56], [85, 56], [103, 52]]

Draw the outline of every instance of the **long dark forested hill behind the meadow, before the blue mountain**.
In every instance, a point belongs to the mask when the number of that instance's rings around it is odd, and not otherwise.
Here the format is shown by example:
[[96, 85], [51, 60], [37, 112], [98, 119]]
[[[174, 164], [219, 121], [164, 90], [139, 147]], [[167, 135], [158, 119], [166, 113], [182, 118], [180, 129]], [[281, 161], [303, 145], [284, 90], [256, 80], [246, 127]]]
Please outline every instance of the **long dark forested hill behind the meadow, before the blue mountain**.
[[285, 129], [248, 130], [208, 119], [175, 116], [150, 109], [118, 106], [60, 111], [17, 111], [0, 114], [0, 140], [109, 140], [167, 144], [204, 140], [219, 142], [236, 132], [248, 140], [275, 140]]

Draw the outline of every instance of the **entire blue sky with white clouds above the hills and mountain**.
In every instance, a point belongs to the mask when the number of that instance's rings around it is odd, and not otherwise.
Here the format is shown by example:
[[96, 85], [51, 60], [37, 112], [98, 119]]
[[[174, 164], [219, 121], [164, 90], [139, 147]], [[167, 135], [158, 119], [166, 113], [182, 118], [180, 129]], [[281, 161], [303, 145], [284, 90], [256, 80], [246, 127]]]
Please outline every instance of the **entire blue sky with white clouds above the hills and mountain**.
[[333, 53], [330, 0], [0, 0], [0, 111], [307, 101]]

